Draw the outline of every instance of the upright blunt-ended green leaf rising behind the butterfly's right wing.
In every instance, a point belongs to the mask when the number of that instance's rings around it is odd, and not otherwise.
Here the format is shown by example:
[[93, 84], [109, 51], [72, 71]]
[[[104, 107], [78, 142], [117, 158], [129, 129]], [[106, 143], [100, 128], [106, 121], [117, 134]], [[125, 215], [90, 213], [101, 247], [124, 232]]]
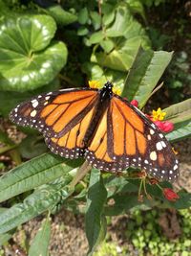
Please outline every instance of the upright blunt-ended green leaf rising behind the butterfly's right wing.
[[122, 96], [129, 101], [136, 99], [142, 108], [170, 62], [172, 54], [164, 51], [143, 51], [140, 48], [125, 81]]

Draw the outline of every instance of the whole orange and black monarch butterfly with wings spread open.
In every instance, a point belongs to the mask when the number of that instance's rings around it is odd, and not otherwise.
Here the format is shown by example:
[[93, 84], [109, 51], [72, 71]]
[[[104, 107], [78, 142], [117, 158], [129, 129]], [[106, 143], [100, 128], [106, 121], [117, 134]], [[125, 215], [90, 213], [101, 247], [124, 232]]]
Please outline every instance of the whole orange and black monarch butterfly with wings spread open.
[[37, 128], [53, 153], [84, 156], [95, 168], [117, 172], [130, 166], [173, 181], [179, 162], [159, 128], [137, 107], [103, 88], [61, 89], [17, 105], [12, 122]]

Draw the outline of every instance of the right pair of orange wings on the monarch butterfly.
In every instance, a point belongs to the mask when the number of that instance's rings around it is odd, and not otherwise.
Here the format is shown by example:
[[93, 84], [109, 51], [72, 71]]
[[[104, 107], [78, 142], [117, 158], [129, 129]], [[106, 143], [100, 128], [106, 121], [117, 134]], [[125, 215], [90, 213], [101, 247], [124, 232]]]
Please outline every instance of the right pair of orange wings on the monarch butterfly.
[[117, 95], [103, 115], [86, 157], [105, 171], [133, 166], [171, 181], [179, 175], [178, 160], [159, 128]]

